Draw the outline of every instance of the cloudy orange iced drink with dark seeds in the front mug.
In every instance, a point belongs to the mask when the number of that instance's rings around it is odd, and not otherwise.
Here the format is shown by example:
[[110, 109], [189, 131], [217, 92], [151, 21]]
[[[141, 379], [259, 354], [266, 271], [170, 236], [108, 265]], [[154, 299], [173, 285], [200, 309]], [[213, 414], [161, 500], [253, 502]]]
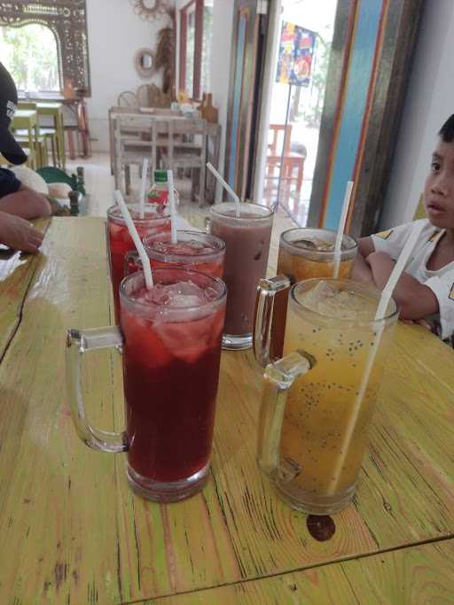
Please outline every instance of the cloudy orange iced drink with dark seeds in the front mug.
[[[379, 299], [380, 292], [372, 286], [348, 280], [309, 280], [298, 284], [289, 299], [284, 355], [303, 349], [316, 360], [290, 388], [282, 426], [281, 461], [296, 476], [278, 487], [287, 500], [299, 502], [297, 508], [330, 514], [344, 508], [355, 492], [397, 320], [391, 301], [387, 319], [374, 322]], [[348, 423], [383, 322], [380, 346], [347, 444]]]

